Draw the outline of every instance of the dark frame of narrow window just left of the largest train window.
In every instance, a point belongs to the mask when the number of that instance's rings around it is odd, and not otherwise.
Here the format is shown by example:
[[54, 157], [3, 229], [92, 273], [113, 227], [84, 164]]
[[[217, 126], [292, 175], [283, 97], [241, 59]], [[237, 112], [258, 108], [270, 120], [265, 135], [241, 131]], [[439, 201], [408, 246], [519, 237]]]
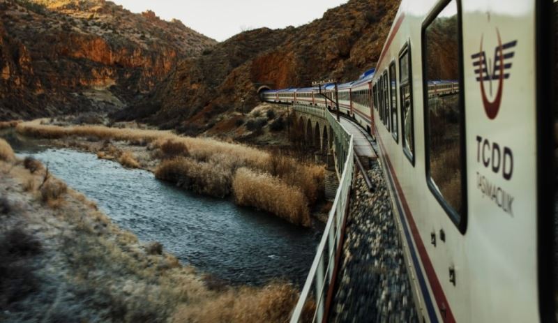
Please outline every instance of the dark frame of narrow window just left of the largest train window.
[[[405, 84], [403, 84], [401, 82], [401, 58], [403, 56], [405, 56], [405, 54], [408, 54], [408, 66], [407, 66], [407, 72], [409, 73], [409, 76], [407, 77], [407, 81]], [[416, 145], [415, 145], [415, 131], [414, 131], [414, 100], [413, 100], [413, 67], [412, 67], [412, 52], [411, 52], [411, 40], [407, 40], [405, 42], [405, 44], [403, 45], [403, 47], [401, 48], [401, 50], [399, 51], [399, 56], [398, 56], [398, 61], [399, 61], [399, 95], [401, 96], [401, 87], [403, 85], [407, 85], [409, 84], [409, 98], [411, 100], [411, 133], [412, 135], [412, 140], [411, 140], [411, 145], [412, 145], [412, 149], [413, 149], [413, 153], [411, 153], [411, 151], [409, 151], [409, 149], [407, 149], [405, 147], [405, 143], [403, 143], [401, 145], [402, 149], [403, 149], [403, 153], [405, 154], [405, 156], [407, 156], [407, 159], [409, 160], [409, 162], [411, 162], [411, 165], [415, 165], [415, 156], [416, 156]], [[405, 140], [405, 119], [403, 118], [403, 101], [400, 98], [399, 100], [400, 102], [400, 115], [401, 115], [401, 142], [403, 142]]]

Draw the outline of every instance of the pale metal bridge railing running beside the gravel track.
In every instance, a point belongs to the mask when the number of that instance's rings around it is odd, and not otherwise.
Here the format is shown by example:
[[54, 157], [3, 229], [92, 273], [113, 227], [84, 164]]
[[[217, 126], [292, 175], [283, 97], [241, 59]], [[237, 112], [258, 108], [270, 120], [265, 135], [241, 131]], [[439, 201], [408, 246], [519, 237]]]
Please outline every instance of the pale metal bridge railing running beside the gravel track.
[[[312, 107], [313, 109], [314, 107]], [[299, 302], [292, 313], [291, 323], [322, 322], [326, 310], [326, 298], [331, 284], [333, 283], [333, 270], [335, 268], [335, 253], [340, 245], [342, 225], [345, 219], [347, 204], [349, 203], [349, 192], [351, 190], [354, 172], [354, 140], [352, 135], [342, 128], [329, 111], [324, 111], [326, 118], [335, 131], [335, 137], [340, 138], [338, 156], [345, 156], [338, 159], [338, 165], [342, 165], [339, 187], [335, 194], [335, 200], [329, 218], [324, 229], [324, 235], [319, 242], [314, 262], [310, 267], [308, 278], [301, 292]], [[333, 118], [333, 119], [332, 119]], [[331, 122], [333, 121], [333, 122]], [[337, 135], [338, 134], [338, 135]], [[347, 142], [345, 144], [345, 141]], [[347, 145], [347, 149], [342, 149]], [[311, 316], [311, 317], [310, 317]]]

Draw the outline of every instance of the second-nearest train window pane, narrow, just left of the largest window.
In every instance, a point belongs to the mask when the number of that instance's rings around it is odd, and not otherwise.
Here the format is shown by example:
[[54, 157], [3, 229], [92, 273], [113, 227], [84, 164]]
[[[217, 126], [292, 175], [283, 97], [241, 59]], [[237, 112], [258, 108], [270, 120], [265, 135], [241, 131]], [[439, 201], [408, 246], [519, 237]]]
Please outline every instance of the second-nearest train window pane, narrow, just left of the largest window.
[[414, 117], [411, 48], [405, 45], [399, 54], [399, 96], [401, 103], [401, 137], [403, 151], [414, 165]]

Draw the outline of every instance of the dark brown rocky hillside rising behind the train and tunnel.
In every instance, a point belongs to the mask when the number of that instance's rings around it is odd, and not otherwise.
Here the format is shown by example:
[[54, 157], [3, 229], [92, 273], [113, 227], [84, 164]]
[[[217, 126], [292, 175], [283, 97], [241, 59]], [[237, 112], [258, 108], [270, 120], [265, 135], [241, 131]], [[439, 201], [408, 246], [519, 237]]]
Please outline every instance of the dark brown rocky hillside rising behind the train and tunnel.
[[229, 112], [254, 107], [261, 84], [284, 88], [324, 78], [354, 80], [375, 66], [398, 5], [398, 0], [350, 0], [301, 27], [240, 33], [179, 63], [147, 100], [116, 119], [202, 133], [227, 122]]

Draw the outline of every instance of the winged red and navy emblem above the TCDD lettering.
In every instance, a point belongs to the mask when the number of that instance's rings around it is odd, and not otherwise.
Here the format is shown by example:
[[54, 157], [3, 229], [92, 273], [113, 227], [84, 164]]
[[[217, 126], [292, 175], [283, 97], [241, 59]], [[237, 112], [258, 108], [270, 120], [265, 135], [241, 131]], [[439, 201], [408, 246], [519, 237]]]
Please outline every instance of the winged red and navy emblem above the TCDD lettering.
[[[504, 91], [504, 80], [510, 77], [508, 70], [511, 69], [511, 59], [513, 59], [513, 47], [518, 43], [517, 40], [502, 44], [500, 32], [496, 29], [498, 37], [498, 45], [494, 50], [494, 63], [491, 64], [490, 59], [486, 61], [486, 53], [483, 50], [483, 36], [481, 36], [481, 50], [480, 52], [471, 55], [473, 59], [473, 66], [475, 74], [477, 75], [476, 81], [481, 84], [481, 96], [483, 98], [483, 105], [488, 119], [493, 120], [498, 115], [500, 105], [502, 104], [502, 91]], [[492, 96], [492, 81], [498, 82], [496, 96], [494, 100], [490, 100], [486, 93], [485, 82], [489, 84], [490, 96]]]

